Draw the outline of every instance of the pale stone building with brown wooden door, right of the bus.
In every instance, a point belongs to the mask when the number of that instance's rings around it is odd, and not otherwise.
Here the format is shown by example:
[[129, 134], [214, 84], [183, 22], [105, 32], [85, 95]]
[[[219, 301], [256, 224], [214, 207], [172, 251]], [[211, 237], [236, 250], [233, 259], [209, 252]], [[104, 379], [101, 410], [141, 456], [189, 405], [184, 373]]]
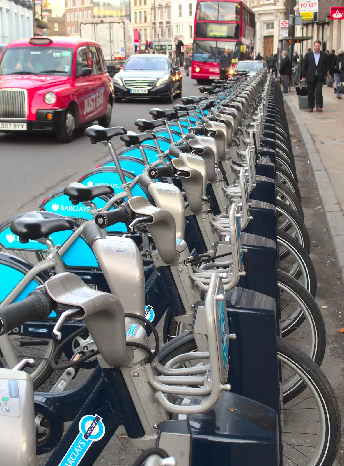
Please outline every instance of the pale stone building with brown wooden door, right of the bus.
[[248, 0], [247, 6], [256, 15], [256, 54], [266, 56], [280, 52], [279, 21], [289, 19], [295, 0]]

